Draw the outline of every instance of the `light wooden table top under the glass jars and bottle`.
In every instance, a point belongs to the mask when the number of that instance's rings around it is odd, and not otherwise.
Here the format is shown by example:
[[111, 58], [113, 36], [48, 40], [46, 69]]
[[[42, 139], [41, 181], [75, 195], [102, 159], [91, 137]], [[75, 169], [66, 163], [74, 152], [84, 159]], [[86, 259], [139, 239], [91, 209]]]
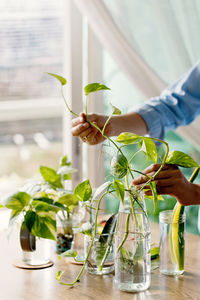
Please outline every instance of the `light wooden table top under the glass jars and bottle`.
[[[152, 224], [152, 239], [158, 242], [159, 228]], [[15, 246], [8, 245], [5, 233], [0, 235], [0, 300], [200, 300], [200, 237], [186, 234], [185, 273], [179, 277], [165, 276], [159, 269], [152, 272], [150, 288], [141, 293], [126, 293], [117, 289], [114, 276], [95, 276], [86, 271], [73, 288], [60, 285], [55, 277], [66, 270], [63, 280], [72, 281], [80, 266], [59, 261], [54, 255], [53, 267], [24, 270], [12, 265]], [[16, 253], [15, 253], [16, 254]]]

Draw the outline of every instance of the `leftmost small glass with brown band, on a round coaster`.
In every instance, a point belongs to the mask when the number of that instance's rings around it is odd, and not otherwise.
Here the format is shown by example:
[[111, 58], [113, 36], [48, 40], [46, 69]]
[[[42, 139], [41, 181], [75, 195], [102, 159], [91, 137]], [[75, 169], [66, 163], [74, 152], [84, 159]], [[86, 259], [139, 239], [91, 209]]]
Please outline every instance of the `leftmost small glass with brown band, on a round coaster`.
[[20, 229], [22, 260], [30, 266], [41, 266], [51, 261], [51, 241], [34, 236], [22, 224]]

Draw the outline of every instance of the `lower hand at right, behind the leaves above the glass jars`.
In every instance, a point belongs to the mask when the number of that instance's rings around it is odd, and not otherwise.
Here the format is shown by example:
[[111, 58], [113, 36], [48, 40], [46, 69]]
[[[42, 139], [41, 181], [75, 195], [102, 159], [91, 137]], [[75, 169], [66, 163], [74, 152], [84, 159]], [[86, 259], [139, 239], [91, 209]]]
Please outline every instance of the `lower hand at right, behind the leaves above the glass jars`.
[[[153, 176], [160, 168], [160, 164], [153, 164], [146, 168], [143, 173], [148, 176]], [[133, 184], [140, 186], [148, 181], [148, 177], [141, 175], [133, 180]], [[197, 204], [196, 190], [200, 187], [189, 182], [179, 168], [175, 165], [165, 165], [162, 171], [155, 177], [158, 194], [171, 195], [176, 197], [182, 205]], [[147, 188], [150, 188], [147, 186]], [[145, 192], [146, 195], [152, 195], [151, 190]]]

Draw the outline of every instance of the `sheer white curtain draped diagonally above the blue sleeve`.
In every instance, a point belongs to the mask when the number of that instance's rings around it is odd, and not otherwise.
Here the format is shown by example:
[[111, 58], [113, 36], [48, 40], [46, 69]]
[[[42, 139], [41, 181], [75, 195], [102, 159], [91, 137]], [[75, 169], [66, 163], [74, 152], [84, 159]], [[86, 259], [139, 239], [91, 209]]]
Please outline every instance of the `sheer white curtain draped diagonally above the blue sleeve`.
[[[199, 0], [75, 3], [103, 46], [147, 98], [159, 95], [199, 59]], [[200, 118], [178, 133], [200, 148]]]

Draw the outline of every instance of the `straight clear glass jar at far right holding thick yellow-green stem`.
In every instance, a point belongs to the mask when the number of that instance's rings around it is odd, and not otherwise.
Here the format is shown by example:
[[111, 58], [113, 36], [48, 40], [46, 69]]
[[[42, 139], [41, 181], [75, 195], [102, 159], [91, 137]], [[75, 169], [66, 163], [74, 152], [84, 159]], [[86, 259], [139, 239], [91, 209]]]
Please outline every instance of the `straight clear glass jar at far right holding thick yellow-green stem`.
[[172, 210], [159, 214], [160, 222], [160, 272], [165, 275], [181, 275], [184, 272], [185, 213], [176, 223]]

